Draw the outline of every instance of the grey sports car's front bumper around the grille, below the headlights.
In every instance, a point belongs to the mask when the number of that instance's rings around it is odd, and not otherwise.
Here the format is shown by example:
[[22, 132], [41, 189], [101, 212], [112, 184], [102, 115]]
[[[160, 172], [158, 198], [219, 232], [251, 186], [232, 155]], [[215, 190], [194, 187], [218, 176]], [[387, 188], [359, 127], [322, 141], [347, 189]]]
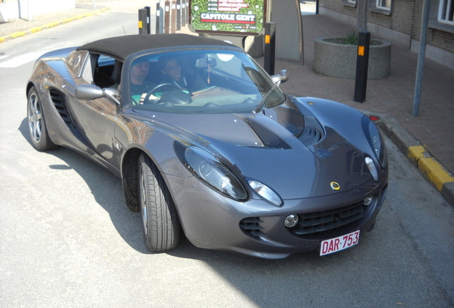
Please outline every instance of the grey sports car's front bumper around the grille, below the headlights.
[[[296, 252], [317, 251], [322, 240], [355, 230], [369, 230], [385, 199], [388, 183], [374, 180], [343, 193], [284, 200], [275, 207], [258, 198], [237, 202], [196, 178], [166, 177], [188, 240], [196, 247], [281, 259]], [[373, 196], [370, 205], [365, 197]], [[293, 228], [284, 225], [298, 215]]]

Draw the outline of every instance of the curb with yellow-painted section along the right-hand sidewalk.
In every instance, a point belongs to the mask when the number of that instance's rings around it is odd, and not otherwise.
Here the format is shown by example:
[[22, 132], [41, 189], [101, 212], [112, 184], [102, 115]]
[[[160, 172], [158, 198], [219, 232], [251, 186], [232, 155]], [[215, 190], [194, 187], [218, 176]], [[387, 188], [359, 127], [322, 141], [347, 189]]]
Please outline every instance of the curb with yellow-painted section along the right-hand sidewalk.
[[393, 141], [399, 150], [412, 162], [429, 183], [454, 207], [454, 175], [450, 173], [427, 148], [403, 128], [395, 118], [383, 113], [358, 109], [366, 116], [375, 116], [375, 124]]

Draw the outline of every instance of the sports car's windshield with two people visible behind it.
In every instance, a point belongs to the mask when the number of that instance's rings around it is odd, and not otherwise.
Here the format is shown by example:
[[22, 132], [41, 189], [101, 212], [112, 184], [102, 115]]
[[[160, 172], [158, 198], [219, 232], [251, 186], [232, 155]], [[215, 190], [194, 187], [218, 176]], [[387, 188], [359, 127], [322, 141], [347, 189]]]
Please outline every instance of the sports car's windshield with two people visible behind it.
[[133, 109], [164, 113], [251, 113], [286, 97], [246, 53], [186, 50], [152, 53], [133, 61]]

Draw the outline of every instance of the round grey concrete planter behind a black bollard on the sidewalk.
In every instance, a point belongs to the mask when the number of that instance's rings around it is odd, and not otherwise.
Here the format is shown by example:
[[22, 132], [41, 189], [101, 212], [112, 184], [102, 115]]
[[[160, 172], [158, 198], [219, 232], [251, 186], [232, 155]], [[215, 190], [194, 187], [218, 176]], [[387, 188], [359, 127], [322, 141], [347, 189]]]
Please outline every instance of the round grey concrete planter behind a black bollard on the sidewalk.
[[[319, 38], [314, 44], [313, 70], [322, 75], [355, 79], [358, 46], [337, 43], [339, 38]], [[389, 76], [391, 44], [380, 39], [370, 40], [368, 79]]]

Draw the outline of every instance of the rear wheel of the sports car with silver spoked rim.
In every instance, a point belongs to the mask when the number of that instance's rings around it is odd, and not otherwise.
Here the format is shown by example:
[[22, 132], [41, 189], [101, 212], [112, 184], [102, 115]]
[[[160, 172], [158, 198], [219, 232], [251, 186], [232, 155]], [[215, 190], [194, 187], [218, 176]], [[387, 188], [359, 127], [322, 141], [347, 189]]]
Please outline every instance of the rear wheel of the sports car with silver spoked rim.
[[31, 145], [39, 151], [53, 150], [57, 145], [49, 138], [43, 106], [38, 91], [32, 87], [27, 98], [27, 119]]

